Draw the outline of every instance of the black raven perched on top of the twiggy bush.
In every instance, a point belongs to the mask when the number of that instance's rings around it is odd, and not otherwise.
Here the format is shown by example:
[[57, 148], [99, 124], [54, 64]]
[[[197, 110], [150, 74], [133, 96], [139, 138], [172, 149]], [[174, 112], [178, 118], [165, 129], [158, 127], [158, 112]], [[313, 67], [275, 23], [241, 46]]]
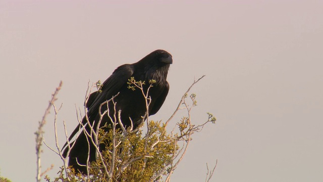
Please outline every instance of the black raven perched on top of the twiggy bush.
[[[144, 92], [147, 92], [149, 86], [149, 80], [156, 80], [153, 86], [149, 88], [149, 96], [151, 102], [148, 109], [148, 114], [153, 115], [157, 113], [161, 105], [163, 105], [166, 96], [169, 91], [169, 83], [167, 82], [167, 74], [170, 64], [173, 63], [172, 55], [164, 50], [156, 50], [137, 63], [124, 64], [119, 66], [112, 75], [107, 78], [101, 87], [101, 92], [97, 91], [92, 93], [86, 104], [88, 108], [87, 116], [89, 123], [94, 125], [94, 130], [99, 120], [99, 106], [101, 103], [111, 99], [113, 96], [119, 95], [114, 98], [116, 104], [116, 111], [121, 110], [121, 121], [125, 127], [133, 125], [133, 129], [136, 129], [142, 122], [142, 116], [146, 113], [146, 105], [144, 97], [140, 89], [129, 89], [128, 79], [134, 77], [136, 81], [145, 81], [143, 85]], [[113, 111], [114, 104], [109, 103], [110, 111]], [[101, 113], [107, 109], [106, 104], [101, 107]], [[113, 112], [110, 114], [114, 114]], [[133, 123], [131, 123], [131, 120]], [[112, 121], [105, 115], [100, 123], [100, 127], [105, 123], [109, 124]], [[82, 124], [86, 124], [85, 117], [82, 120]], [[119, 126], [120, 127], [120, 126]], [[72, 132], [69, 141], [81, 130], [80, 124]], [[109, 127], [104, 127], [105, 131], [109, 131]], [[111, 128], [111, 127], [110, 127]], [[88, 126], [85, 127], [87, 131], [90, 131]], [[84, 132], [80, 132], [77, 139], [74, 141], [74, 147], [69, 153], [69, 165], [76, 171], [85, 173], [85, 165], [88, 156], [89, 144]], [[73, 144], [73, 143], [72, 143]], [[65, 144], [67, 146], [67, 143]], [[65, 147], [64, 146], [64, 147]], [[63, 147], [63, 148], [64, 148]], [[100, 149], [104, 149], [104, 146], [100, 146]], [[63, 156], [67, 157], [68, 147], [65, 148]], [[90, 155], [89, 162], [95, 160], [95, 148], [90, 142]], [[79, 163], [79, 164], [78, 164]]]

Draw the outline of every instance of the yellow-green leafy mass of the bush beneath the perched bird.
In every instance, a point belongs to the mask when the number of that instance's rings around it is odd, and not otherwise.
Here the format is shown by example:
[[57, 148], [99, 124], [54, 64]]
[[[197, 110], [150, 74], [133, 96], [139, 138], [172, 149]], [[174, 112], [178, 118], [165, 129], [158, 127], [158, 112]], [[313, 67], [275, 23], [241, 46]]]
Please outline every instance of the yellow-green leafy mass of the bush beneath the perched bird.
[[[145, 134], [142, 130], [136, 133], [130, 131], [124, 133], [121, 129], [116, 129], [115, 134], [113, 129], [107, 133], [101, 130], [99, 141], [107, 145], [101, 154], [107, 169], [113, 170], [112, 178], [107, 177], [103, 164], [98, 159], [90, 165], [89, 181], [153, 181], [156, 177], [166, 174], [167, 167], [173, 162], [174, 155], [179, 149], [176, 143], [177, 137], [168, 134], [165, 125], [159, 121], [149, 121], [147, 128], [149, 129]], [[54, 181], [88, 180], [87, 176], [75, 175], [73, 169], [68, 171], [70, 180], [64, 175], [62, 168], [59, 177]]]

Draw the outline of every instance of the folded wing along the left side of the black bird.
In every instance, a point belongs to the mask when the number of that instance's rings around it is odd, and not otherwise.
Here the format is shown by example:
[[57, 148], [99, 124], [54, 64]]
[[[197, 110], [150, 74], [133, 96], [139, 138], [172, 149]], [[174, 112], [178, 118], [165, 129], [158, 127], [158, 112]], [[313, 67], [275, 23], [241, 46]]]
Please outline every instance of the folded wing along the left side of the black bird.
[[[93, 113], [98, 112], [99, 105], [104, 101], [111, 99], [113, 96], [117, 95], [120, 91], [120, 88], [127, 83], [128, 79], [132, 76], [134, 72], [134, 67], [131, 64], [124, 64], [119, 66], [112, 75], [103, 82], [101, 87], [102, 92], [94, 92], [89, 96], [89, 99], [86, 103], [88, 109], [88, 117]], [[86, 124], [86, 119], [82, 120], [83, 124]], [[81, 129], [81, 125], [78, 124], [74, 131], [69, 137], [69, 141], [73, 139], [76, 133]], [[67, 143], [63, 146], [63, 149], [67, 146]]]

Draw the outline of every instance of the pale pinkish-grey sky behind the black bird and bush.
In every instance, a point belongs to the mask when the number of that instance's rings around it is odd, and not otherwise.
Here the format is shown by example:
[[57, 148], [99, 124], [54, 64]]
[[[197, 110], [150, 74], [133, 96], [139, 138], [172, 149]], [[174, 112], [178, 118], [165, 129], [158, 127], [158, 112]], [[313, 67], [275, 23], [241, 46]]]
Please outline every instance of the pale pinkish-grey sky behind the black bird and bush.
[[[71, 132], [87, 82], [156, 49], [174, 58], [166, 120], [194, 77], [195, 134], [172, 181], [323, 181], [323, 1], [0, 0], [0, 172], [35, 181], [35, 135], [63, 80]], [[52, 115], [45, 139], [53, 146]], [[175, 124], [177, 121], [173, 121]], [[64, 144], [60, 125], [60, 145]], [[60, 158], [44, 148], [43, 170]]]

